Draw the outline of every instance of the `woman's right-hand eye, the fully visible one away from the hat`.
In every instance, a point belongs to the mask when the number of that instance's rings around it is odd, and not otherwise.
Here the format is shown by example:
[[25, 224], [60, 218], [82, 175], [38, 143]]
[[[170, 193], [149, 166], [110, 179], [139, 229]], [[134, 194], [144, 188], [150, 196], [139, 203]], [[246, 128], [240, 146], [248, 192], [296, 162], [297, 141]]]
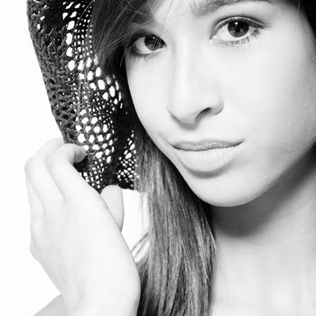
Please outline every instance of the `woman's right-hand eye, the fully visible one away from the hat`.
[[249, 42], [262, 28], [262, 25], [248, 18], [229, 18], [218, 24], [212, 39], [228, 44]]

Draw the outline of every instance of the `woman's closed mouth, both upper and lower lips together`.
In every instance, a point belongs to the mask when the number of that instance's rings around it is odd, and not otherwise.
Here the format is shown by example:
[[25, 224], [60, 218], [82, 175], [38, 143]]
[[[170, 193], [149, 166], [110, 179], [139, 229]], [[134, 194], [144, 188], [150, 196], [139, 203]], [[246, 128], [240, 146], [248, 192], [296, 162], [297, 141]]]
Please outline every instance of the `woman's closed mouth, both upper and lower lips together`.
[[191, 172], [218, 172], [232, 163], [242, 142], [181, 143], [174, 146], [181, 163]]

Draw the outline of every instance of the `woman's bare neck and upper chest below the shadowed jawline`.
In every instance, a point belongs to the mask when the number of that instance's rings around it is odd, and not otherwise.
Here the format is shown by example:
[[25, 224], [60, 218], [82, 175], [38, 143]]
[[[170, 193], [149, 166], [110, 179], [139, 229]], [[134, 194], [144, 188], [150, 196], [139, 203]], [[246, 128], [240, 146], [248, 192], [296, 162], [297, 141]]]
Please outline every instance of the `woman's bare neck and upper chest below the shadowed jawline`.
[[251, 302], [268, 313], [266, 306], [274, 314], [291, 309], [288, 315], [293, 307], [305, 312], [312, 304], [315, 312], [314, 156], [307, 155], [256, 200], [211, 211], [218, 246], [215, 300], [229, 295], [232, 302]]

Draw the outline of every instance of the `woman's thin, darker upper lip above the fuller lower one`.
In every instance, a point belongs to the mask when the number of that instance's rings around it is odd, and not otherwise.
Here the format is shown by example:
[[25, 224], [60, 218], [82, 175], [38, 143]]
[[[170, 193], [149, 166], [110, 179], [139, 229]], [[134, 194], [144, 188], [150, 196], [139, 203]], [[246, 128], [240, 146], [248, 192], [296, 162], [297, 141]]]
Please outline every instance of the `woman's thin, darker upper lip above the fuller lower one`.
[[184, 151], [203, 151], [214, 148], [226, 148], [231, 146], [236, 146], [237, 144], [242, 143], [242, 141], [223, 141], [215, 139], [206, 139], [197, 142], [178, 142], [172, 144], [173, 147], [181, 149]]

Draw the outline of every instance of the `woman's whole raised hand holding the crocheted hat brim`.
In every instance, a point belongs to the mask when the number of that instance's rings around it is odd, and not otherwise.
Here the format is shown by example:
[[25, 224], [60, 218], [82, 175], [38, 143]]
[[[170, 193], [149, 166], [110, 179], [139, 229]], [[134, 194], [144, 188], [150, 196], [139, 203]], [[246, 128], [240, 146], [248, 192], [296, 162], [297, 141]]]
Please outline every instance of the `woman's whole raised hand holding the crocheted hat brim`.
[[70, 315], [89, 304], [120, 315], [140, 297], [135, 260], [120, 231], [122, 191], [110, 185], [98, 194], [90, 187], [72, 165], [84, 157], [82, 147], [58, 138], [25, 164], [30, 248]]

